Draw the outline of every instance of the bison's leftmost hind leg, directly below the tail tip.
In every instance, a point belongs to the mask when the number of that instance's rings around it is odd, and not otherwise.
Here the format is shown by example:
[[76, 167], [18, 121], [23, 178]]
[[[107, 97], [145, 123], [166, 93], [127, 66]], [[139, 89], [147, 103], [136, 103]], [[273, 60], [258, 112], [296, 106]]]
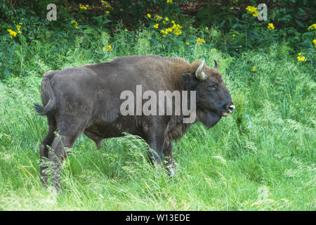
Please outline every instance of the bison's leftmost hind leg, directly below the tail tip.
[[47, 179], [48, 179], [48, 175], [46, 173], [46, 169], [48, 168], [48, 165], [46, 163], [46, 161], [48, 160], [48, 148], [50, 148], [51, 144], [53, 143], [53, 139], [55, 137], [54, 132], [57, 129], [56, 121], [54, 117], [48, 116], [47, 120], [48, 120], [48, 134], [46, 135], [43, 142], [41, 143], [41, 146], [39, 146], [39, 154], [40, 154], [39, 174], [40, 174], [41, 184], [43, 184], [44, 186], [47, 186]]

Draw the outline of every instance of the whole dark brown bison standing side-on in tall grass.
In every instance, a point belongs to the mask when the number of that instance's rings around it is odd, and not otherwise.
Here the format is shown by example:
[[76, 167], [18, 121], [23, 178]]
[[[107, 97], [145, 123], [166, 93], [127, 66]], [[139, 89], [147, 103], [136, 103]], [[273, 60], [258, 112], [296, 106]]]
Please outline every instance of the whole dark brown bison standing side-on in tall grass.
[[[164, 154], [166, 169], [173, 175], [176, 163], [173, 161], [171, 141], [180, 139], [194, 122], [202, 122], [208, 129], [213, 127], [221, 117], [230, 115], [235, 108], [217, 70], [218, 63], [214, 61], [215, 67], [209, 68], [204, 60], [188, 63], [182, 58], [124, 56], [108, 63], [46, 72], [41, 81], [44, 106], [34, 104], [34, 107], [39, 115], [46, 115], [48, 119], [48, 134], [41, 143], [40, 155], [41, 161], [48, 158], [52, 162], [53, 187], [57, 190], [61, 188], [62, 161], [67, 156], [65, 147], [72, 148], [82, 133], [95, 141], [98, 148], [103, 139], [122, 136], [123, 132], [138, 135], [154, 150], [148, 152], [150, 160], [162, 166]], [[192, 100], [182, 96], [180, 105], [185, 103], [192, 106], [193, 102], [196, 103], [193, 105], [196, 110], [190, 111], [190, 115], [184, 115], [183, 112], [176, 114], [174, 112], [179, 102], [174, 101], [166, 106], [163, 103], [164, 109], [172, 108], [172, 115], [143, 115], [139, 112], [136, 115], [122, 115], [124, 99], [121, 99], [121, 94], [129, 90], [129, 93], [137, 95], [137, 86], [153, 93], [189, 91], [189, 96], [195, 94], [196, 98]], [[138, 103], [136, 100], [136, 111], [139, 103], [142, 107], [144, 99]], [[157, 103], [157, 106], [161, 105]], [[129, 108], [130, 112], [133, 109]], [[193, 117], [194, 120], [185, 123], [187, 117]], [[55, 136], [55, 131], [58, 136]], [[47, 184], [48, 179], [44, 172], [46, 168], [47, 165], [41, 163], [43, 184]]]

